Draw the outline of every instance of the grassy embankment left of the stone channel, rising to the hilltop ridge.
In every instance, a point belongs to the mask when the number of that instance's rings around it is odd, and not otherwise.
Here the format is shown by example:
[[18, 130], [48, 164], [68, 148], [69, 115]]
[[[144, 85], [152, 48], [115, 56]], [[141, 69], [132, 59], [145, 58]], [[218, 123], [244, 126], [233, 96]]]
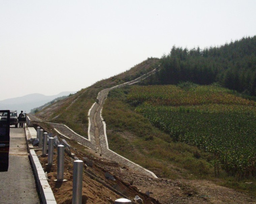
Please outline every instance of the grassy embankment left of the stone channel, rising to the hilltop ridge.
[[102, 89], [136, 79], [155, 69], [158, 66], [158, 62], [158, 58], [148, 58], [126, 72], [100, 80], [90, 87], [81, 89], [75, 95], [51, 104], [35, 115], [50, 122], [66, 124], [78, 134], [88, 136], [87, 114], [96, 101], [98, 92]]

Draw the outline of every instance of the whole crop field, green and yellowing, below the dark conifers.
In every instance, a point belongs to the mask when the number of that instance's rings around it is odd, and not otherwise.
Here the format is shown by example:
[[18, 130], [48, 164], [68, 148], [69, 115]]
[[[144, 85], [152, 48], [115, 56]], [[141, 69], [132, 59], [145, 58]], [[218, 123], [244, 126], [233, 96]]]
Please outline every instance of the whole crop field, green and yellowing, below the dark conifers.
[[216, 168], [239, 177], [256, 175], [254, 101], [211, 86], [188, 91], [176, 86], [135, 86], [128, 100], [139, 101], [136, 111], [174, 140], [213, 153]]

